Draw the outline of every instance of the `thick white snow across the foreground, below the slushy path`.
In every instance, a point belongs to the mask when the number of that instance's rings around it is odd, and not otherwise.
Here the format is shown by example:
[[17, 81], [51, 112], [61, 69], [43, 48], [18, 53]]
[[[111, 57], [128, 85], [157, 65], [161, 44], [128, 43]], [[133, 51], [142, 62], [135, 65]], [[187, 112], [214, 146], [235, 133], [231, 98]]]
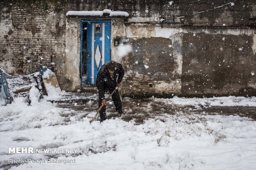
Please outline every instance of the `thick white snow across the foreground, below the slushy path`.
[[[16, 125], [14, 125], [15, 128]], [[29, 136], [28, 136], [29, 134]], [[187, 169], [251, 170], [256, 165], [256, 122], [238, 116], [165, 115], [164, 122], [144, 124], [109, 119], [100, 124], [84, 118], [73, 124], [1, 132], [1, 166], [9, 158], [47, 159], [48, 154], [7, 154], [9, 146], [72, 148], [76, 154], [56, 154], [76, 159], [75, 164], [21, 164], [13, 169]], [[43, 138], [42, 138], [43, 136]], [[159, 146], [158, 141], [161, 140]]]

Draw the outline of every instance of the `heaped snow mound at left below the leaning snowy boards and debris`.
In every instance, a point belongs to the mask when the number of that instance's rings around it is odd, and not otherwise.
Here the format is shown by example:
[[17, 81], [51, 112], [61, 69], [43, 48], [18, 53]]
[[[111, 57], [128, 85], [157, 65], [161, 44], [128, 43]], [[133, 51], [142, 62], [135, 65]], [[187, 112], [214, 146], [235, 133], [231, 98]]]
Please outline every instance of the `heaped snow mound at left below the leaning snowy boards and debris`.
[[[31, 90], [32, 92], [33, 90]], [[12, 104], [0, 107], [0, 131], [40, 128], [64, 123], [64, 117], [61, 117], [60, 114], [63, 114], [65, 109], [57, 108], [56, 104], [44, 99], [39, 103], [33, 99], [32, 106], [29, 106], [25, 99], [18, 97]]]

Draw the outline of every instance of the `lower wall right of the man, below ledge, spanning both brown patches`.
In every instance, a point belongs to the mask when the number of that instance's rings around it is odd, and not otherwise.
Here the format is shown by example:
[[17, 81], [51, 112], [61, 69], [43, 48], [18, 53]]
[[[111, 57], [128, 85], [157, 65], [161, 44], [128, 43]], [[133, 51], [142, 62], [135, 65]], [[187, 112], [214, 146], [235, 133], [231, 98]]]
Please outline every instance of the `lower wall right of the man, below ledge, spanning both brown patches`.
[[134, 50], [123, 58], [128, 73], [124, 94], [255, 95], [255, 30], [152, 26], [126, 30]]

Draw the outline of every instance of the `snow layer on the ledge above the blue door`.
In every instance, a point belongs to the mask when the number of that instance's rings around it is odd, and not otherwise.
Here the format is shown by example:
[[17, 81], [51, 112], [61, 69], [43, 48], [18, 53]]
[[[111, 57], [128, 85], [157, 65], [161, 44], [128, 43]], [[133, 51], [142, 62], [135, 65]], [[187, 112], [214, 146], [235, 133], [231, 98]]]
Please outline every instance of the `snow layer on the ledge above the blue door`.
[[68, 11], [66, 16], [103, 16], [103, 14], [109, 14], [109, 16], [129, 16], [126, 11], [111, 11], [110, 9], [104, 9], [103, 11]]

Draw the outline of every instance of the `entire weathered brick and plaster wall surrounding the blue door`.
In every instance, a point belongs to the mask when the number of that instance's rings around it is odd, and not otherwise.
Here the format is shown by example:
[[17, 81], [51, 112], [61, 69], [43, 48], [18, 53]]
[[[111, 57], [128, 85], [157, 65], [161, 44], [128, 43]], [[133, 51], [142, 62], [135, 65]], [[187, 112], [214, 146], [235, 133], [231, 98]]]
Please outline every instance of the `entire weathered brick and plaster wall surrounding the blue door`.
[[[255, 95], [254, 0], [238, 0], [235, 5], [185, 18], [177, 17], [229, 1], [170, 2], [1, 1], [0, 67], [9, 74], [25, 75], [38, 71], [40, 61], [50, 66], [52, 59], [61, 88], [76, 90], [80, 86], [82, 18], [66, 18], [66, 12], [112, 9], [130, 14], [128, 21], [112, 18], [111, 30], [112, 40], [130, 39], [133, 46], [132, 53], [120, 58], [111, 43], [111, 60], [121, 62], [126, 70], [124, 96]], [[166, 21], [142, 23], [160, 18]]]

